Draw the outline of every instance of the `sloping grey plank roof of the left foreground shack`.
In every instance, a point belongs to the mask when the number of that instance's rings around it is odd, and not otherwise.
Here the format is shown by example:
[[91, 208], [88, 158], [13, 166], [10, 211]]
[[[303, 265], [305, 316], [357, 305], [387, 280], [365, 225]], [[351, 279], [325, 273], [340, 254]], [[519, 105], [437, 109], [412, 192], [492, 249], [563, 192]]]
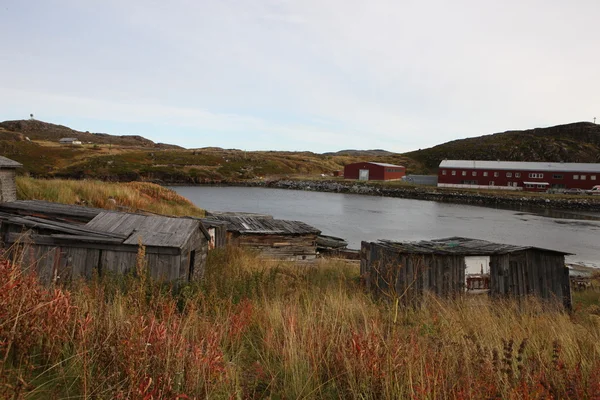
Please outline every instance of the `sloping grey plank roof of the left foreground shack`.
[[[183, 248], [202, 222], [191, 218], [170, 218], [129, 213], [101, 212], [86, 228], [127, 236], [123, 244]], [[207, 235], [207, 233], [205, 234]]]

